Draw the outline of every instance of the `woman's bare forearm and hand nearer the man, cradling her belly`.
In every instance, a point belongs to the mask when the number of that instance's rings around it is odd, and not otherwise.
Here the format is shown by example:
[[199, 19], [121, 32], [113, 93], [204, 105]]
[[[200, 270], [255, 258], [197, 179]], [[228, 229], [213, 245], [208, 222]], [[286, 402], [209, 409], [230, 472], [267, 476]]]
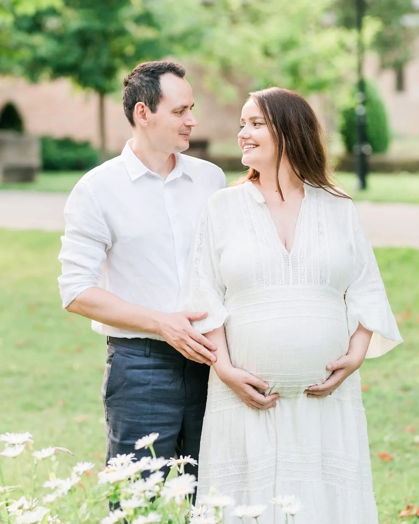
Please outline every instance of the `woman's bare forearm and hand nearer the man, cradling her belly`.
[[277, 393], [264, 396], [256, 389], [268, 389], [269, 384], [251, 373], [231, 365], [224, 325], [206, 333], [206, 336], [217, 346], [217, 362], [214, 362], [214, 369], [220, 380], [230, 389], [233, 389], [250, 408], [269, 409], [276, 406], [279, 397]]

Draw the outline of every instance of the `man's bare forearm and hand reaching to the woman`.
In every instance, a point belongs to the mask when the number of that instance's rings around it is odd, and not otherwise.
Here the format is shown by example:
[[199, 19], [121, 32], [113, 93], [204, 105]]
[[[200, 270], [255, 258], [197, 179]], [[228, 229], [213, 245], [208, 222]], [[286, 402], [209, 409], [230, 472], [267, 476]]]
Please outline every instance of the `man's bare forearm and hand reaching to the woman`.
[[201, 320], [207, 313], [162, 313], [127, 302], [96, 286], [82, 291], [65, 309], [114, 328], [157, 333], [195, 362], [212, 365], [216, 361], [212, 353], [215, 345], [191, 326], [192, 320]]

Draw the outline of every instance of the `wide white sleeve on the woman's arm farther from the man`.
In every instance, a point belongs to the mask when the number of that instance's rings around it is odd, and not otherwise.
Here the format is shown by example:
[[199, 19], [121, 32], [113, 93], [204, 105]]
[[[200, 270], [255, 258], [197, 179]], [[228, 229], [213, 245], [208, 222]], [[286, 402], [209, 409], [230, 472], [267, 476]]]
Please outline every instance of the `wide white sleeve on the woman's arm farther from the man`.
[[366, 358], [384, 355], [403, 342], [391, 311], [377, 260], [355, 205], [351, 203], [355, 263], [345, 294], [349, 336], [361, 324], [373, 332]]

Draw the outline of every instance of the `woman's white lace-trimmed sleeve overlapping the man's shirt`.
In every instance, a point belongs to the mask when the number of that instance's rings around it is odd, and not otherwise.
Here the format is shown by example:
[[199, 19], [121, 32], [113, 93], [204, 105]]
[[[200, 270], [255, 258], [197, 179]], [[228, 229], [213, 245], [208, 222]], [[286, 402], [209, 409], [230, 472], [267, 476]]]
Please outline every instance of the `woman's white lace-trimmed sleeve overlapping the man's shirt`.
[[225, 286], [219, 272], [219, 255], [214, 245], [214, 232], [208, 209], [205, 209], [192, 236], [178, 311], [207, 312], [203, 320], [192, 325], [200, 333], [222, 326], [228, 312], [224, 305]]

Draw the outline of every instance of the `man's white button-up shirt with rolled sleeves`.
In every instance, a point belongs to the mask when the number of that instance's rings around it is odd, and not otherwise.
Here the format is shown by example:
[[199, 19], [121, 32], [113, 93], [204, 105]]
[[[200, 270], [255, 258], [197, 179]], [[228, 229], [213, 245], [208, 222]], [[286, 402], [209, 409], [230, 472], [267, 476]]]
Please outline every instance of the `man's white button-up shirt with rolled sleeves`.
[[[194, 223], [208, 197], [226, 187], [220, 168], [180, 154], [164, 180], [137, 158], [129, 142], [120, 156], [86, 173], [65, 205], [58, 257], [63, 308], [98, 286], [128, 302], [174, 312]], [[159, 338], [96, 321], [92, 329]]]

